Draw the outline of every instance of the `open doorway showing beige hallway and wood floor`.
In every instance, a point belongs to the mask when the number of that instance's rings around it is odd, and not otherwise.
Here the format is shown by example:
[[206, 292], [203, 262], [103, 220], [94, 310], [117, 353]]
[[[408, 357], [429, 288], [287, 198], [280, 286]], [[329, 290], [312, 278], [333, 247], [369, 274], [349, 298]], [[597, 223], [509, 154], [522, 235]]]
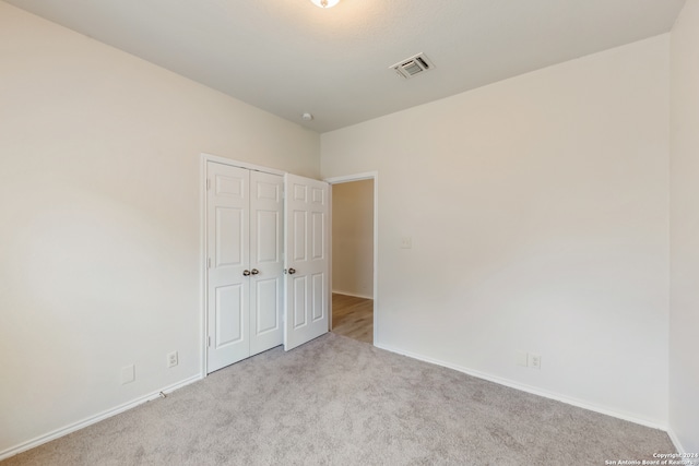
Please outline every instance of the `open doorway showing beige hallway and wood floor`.
[[327, 180], [332, 188], [331, 331], [375, 343], [377, 176]]

